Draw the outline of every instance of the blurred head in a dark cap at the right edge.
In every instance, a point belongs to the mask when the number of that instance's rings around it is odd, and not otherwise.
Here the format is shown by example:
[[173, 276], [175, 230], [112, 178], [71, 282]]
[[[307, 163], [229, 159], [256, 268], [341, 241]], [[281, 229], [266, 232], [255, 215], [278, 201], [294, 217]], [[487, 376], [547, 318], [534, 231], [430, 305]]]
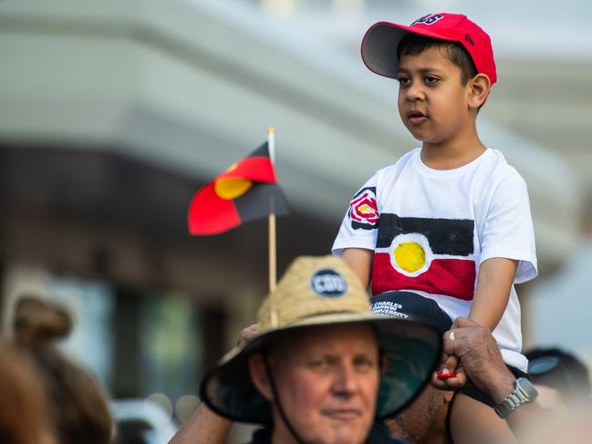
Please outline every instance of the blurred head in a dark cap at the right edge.
[[539, 402], [545, 407], [557, 403], [590, 400], [590, 375], [586, 364], [560, 348], [534, 348], [524, 353], [528, 375], [540, 390]]

